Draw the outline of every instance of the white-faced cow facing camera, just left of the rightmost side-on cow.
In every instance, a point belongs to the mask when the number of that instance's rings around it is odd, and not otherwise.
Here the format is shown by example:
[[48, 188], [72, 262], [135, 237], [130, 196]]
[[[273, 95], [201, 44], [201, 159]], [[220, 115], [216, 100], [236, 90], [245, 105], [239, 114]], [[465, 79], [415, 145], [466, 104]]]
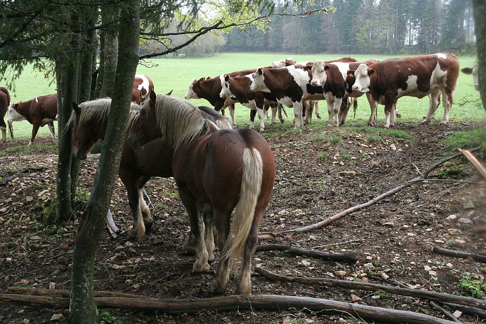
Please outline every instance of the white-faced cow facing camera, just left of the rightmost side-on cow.
[[378, 60], [367, 60], [361, 62], [331, 62], [322, 60], [315, 61], [312, 67], [305, 67], [304, 70], [312, 71], [311, 85], [322, 86], [326, 103], [328, 105], [329, 121], [328, 126], [343, 125], [347, 111], [355, 99], [344, 100], [351, 91], [347, 91], [346, 76], [348, 70], [355, 70], [361, 64], [370, 65], [379, 62]]

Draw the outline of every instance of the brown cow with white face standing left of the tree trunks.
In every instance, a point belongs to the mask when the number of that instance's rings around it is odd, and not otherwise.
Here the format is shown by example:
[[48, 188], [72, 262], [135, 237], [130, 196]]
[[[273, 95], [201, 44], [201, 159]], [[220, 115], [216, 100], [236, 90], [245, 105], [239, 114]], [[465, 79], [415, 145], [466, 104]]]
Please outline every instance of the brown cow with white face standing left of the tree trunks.
[[57, 116], [57, 94], [45, 95], [35, 97], [26, 102], [13, 103], [8, 108], [9, 122], [26, 119], [34, 127], [32, 128], [32, 137], [29, 145], [34, 142], [35, 135], [39, 127], [49, 125], [49, 130], [52, 133], [52, 140], [56, 141], [56, 134], [54, 131], [54, 120]]

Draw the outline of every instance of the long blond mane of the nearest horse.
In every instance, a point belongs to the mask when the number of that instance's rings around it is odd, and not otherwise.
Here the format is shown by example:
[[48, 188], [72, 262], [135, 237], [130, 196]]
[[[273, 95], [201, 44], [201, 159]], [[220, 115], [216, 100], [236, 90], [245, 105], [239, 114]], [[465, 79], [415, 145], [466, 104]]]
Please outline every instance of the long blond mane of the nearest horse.
[[[148, 104], [150, 100], [145, 101], [145, 105]], [[219, 129], [215, 123], [201, 115], [199, 108], [180, 98], [158, 94], [155, 110], [158, 131], [174, 151], [182, 144], [189, 144], [197, 136]]]

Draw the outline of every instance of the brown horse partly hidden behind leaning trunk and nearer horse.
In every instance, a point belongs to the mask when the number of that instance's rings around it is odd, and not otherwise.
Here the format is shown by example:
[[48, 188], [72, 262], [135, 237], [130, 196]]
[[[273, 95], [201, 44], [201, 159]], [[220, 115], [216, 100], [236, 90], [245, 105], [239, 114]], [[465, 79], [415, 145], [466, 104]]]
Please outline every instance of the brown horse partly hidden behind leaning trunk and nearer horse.
[[[109, 98], [83, 102], [79, 106], [73, 103], [68, 127], [72, 127], [73, 130], [73, 155], [80, 160], [87, 159], [87, 153], [92, 146], [99, 139], [104, 139], [110, 105], [111, 99]], [[139, 108], [139, 105], [131, 104], [129, 123], [134, 116], [137, 116]], [[220, 128], [231, 128], [226, 117], [218, 114], [214, 109], [210, 110], [212, 115], [205, 116], [206, 118], [219, 124]], [[218, 119], [226, 119], [226, 124]], [[172, 176], [170, 163], [167, 165], [154, 163], [154, 161], [172, 159], [167, 152], [168, 149], [161, 139], [148, 143], [143, 150], [135, 151], [128, 145], [125, 136], [118, 175], [127, 190], [128, 203], [134, 219], [133, 227], [127, 233], [129, 239], [141, 238], [145, 229], [152, 225], [153, 219], [150, 210], [143, 199], [143, 186], [152, 176], [164, 178]], [[188, 248], [191, 246], [189, 245]]]

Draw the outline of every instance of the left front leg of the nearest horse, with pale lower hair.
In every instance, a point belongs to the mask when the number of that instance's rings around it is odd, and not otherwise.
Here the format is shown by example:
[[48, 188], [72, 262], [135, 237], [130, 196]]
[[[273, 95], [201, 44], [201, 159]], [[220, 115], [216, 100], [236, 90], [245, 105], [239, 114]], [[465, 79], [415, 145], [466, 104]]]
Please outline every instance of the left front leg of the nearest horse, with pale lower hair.
[[179, 196], [189, 214], [191, 232], [194, 234], [196, 261], [192, 266], [192, 272], [205, 272], [209, 270], [208, 251], [204, 241], [204, 220], [203, 215], [199, 213], [196, 197], [185, 188], [179, 187]]

